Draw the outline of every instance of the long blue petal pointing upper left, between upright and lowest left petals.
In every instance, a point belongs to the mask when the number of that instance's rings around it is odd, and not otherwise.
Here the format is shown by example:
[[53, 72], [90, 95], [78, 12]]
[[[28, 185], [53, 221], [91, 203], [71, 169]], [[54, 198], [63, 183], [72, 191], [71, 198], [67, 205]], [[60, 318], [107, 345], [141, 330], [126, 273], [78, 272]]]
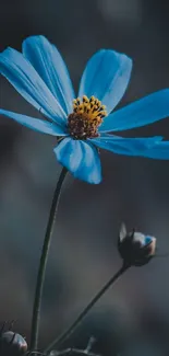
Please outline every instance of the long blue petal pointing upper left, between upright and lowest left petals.
[[67, 116], [62, 107], [21, 53], [13, 48], [7, 48], [0, 54], [0, 72], [24, 99], [40, 110], [44, 115], [58, 124], [64, 124]]

